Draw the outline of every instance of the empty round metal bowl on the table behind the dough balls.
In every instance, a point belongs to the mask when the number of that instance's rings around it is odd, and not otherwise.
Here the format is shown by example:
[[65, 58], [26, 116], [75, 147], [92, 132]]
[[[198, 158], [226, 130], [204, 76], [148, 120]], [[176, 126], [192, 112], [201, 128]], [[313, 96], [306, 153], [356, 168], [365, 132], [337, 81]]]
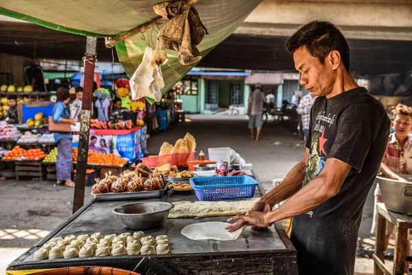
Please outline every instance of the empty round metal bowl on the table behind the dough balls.
[[174, 205], [168, 202], [141, 201], [117, 206], [112, 212], [125, 228], [146, 230], [163, 225], [172, 208]]

